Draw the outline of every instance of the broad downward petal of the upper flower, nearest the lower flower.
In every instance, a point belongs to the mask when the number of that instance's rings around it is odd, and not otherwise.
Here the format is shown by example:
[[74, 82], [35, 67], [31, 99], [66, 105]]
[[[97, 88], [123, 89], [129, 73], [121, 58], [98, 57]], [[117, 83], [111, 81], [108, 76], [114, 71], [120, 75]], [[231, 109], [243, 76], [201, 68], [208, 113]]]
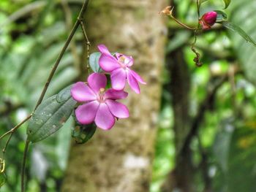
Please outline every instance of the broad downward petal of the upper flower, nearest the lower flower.
[[123, 90], [127, 79], [124, 69], [116, 69], [110, 75], [112, 88], [115, 90]]

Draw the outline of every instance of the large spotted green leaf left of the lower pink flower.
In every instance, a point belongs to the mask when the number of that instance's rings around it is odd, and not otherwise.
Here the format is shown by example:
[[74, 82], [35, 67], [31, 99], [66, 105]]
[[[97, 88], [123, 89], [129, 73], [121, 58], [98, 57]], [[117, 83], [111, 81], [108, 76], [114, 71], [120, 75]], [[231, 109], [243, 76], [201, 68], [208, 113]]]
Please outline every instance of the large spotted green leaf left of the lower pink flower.
[[71, 86], [65, 88], [39, 105], [27, 128], [30, 142], [39, 142], [49, 137], [67, 121], [76, 104], [70, 95], [70, 88]]

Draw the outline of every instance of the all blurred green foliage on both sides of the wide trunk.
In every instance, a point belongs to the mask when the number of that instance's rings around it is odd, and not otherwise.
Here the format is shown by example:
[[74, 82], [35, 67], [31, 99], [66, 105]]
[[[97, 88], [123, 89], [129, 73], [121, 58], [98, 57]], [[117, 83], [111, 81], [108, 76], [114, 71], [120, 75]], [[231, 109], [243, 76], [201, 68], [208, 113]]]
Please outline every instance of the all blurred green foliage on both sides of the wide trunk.
[[[254, 0], [246, 0], [251, 3]], [[233, 0], [227, 13], [233, 23], [242, 25], [252, 32], [255, 38], [253, 17], [241, 18], [241, 12], [254, 12], [255, 9], [243, 4], [236, 6], [239, 0]], [[175, 0], [176, 15], [187, 23], [197, 20], [195, 2]], [[79, 1], [71, 1], [73, 20]], [[32, 8], [31, 8], [32, 7]], [[201, 13], [211, 9], [222, 9], [223, 1], [209, 0], [203, 4]], [[54, 11], [53, 11], [54, 10]], [[249, 10], [249, 11], [248, 11]], [[237, 22], [236, 22], [237, 21]], [[173, 27], [171, 21], [168, 23]], [[202, 151], [208, 159], [207, 173], [211, 178], [213, 191], [250, 192], [255, 191], [256, 179], [256, 89], [254, 47], [244, 43], [240, 37], [229, 34], [222, 28], [207, 31], [197, 40], [197, 49], [202, 55], [203, 66], [197, 68], [193, 62], [194, 54], [189, 48], [192, 34], [172, 28], [166, 53], [181, 48], [191, 73], [192, 91], [190, 93], [189, 113], [197, 115], [201, 102], [206, 97], [206, 89], [219, 77], [230, 74], [227, 81], [218, 89], [210, 110], [206, 112], [191, 148], [193, 164], [200, 166]], [[10, 130], [33, 110], [39, 97], [50, 67], [56, 60], [64, 40], [67, 37], [67, 23], [60, 1], [20, 0], [0, 1], [0, 134]], [[79, 42], [78, 33], [75, 41]], [[81, 45], [77, 46], [78, 53]], [[246, 62], [248, 61], [249, 62]], [[74, 55], [68, 50], [50, 85], [47, 93], [52, 96], [69, 85], [79, 75], [74, 64]], [[238, 64], [243, 71], [233, 75], [230, 66]], [[167, 174], [176, 166], [175, 134], [173, 132], [172, 96], [167, 86], [171, 77], [164, 70], [162, 109], [159, 114], [156, 155], [151, 183], [151, 192], [159, 192]], [[68, 78], [67, 78], [68, 77]], [[53, 137], [33, 145], [29, 151], [28, 191], [59, 191], [69, 153], [72, 120]], [[5, 157], [7, 171], [4, 192], [19, 191], [20, 162], [23, 156], [24, 125], [15, 133]], [[198, 139], [200, 138], [200, 140]], [[0, 143], [4, 146], [7, 138]], [[65, 150], [63, 150], [65, 149]], [[2, 154], [1, 154], [2, 155]], [[1, 156], [0, 156], [1, 157]], [[199, 169], [198, 169], [199, 170]], [[197, 191], [203, 191], [205, 185], [202, 173], [195, 170]], [[0, 174], [0, 180], [4, 174]]]

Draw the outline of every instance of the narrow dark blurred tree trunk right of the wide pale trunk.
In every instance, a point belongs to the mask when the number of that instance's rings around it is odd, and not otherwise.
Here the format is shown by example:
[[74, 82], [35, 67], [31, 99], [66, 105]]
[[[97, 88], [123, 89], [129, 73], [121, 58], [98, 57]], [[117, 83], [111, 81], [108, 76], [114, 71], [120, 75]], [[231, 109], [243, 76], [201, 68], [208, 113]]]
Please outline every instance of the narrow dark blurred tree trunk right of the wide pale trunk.
[[191, 128], [189, 117], [189, 67], [184, 61], [181, 49], [167, 55], [167, 65], [170, 70], [171, 82], [168, 90], [173, 96], [174, 132], [176, 145], [176, 167], [170, 172], [162, 191], [170, 192], [178, 189], [181, 192], [192, 192], [193, 167], [192, 154], [189, 145], [184, 145], [184, 139]]

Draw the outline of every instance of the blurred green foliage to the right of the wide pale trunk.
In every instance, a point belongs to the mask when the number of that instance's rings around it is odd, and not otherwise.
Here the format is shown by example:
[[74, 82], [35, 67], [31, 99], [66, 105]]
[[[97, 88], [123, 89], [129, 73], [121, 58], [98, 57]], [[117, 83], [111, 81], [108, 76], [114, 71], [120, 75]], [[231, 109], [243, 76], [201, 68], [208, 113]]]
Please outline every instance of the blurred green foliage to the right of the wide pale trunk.
[[[252, 29], [255, 28], [253, 23], [255, 14], [252, 8], [255, 6], [255, 1], [246, 2], [250, 6], [244, 4], [244, 1], [233, 0], [230, 8], [225, 12], [233, 23], [240, 25], [255, 38], [255, 30]], [[190, 24], [194, 22], [195, 25], [195, 1], [177, 0], [174, 4], [176, 17]], [[201, 15], [209, 10], [222, 8], [222, 1], [207, 1], [201, 7]], [[251, 13], [250, 18], [249, 13]], [[167, 42], [167, 53], [181, 48], [192, 75], [189, 101], [192, 117], [197, 115], [198, 107], [206, 98], [207, 88], [211, 88], [211, 81], [229, 74], [227, 81], [218, 89], [212, 106], [201, 119], [203, 123], [198, 137], [195, 137], [190, 144], [193, 165], [200, 168], [202, 154], [207, 155], [206, 172], [211, 179], [212, 191], [255, 191], [255, 47], [246, 43], [237, 34], [227, 33], [222, 28], [217, 31], [207, 31], [197, 39], [196, 47], [202, 56], [203, 66], [196, 68], [193, 62], [195, 55], [188, 43], [192, 42], [192, 34], [188, 31], [176, 30], [173, 21], [169, 22], [171, 33]], [[230, 66], [232, 69], [232, 66], [236, 65], [242, 70], [241, 73], [234, 75], [232, 70], [230, 72]], [[163, 77], [165, 77], [164, 88], [167, 88], [165, 85], [168, 85], [171, 77], [169, 74]], [[167, 175], [176, 166], [171, 98], [169, 91], [165, 89], [162, 97], [162, 112], [159, 115], [151, 192], [161, 191]], [[191, 180], [195, 185], [195, 191], [203, 191], [206, 183], [203, 180], [202, 170], [195, 169], [195, 178]]]

